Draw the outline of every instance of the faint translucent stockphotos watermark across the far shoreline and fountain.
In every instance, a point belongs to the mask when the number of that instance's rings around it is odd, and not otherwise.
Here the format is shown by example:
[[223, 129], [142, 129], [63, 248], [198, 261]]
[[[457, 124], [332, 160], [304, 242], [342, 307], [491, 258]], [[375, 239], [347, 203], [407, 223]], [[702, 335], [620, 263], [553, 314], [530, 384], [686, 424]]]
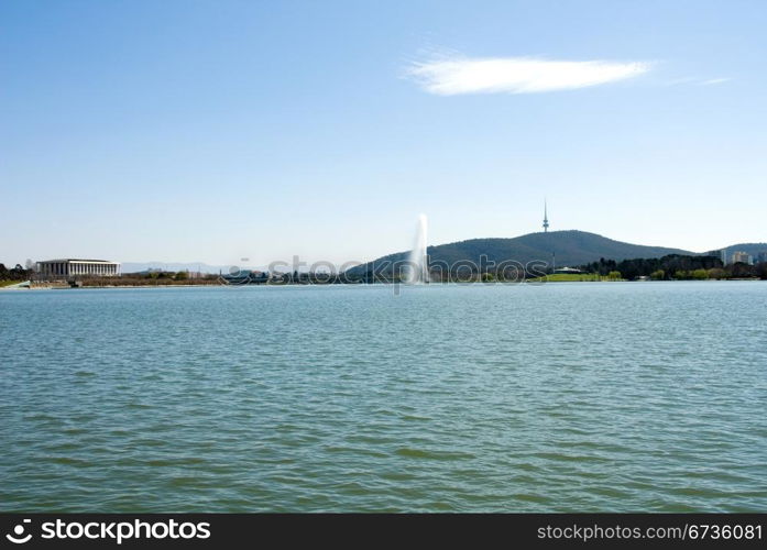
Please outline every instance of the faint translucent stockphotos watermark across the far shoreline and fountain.
[[[248, 258], [242, 261], [248, 262]], [[232, 265], [229, 273], [219, 275], [219, 282], [228, 286], [388, 284], [394, 285], [395, 288], [413, 283], [540, 284], [546, 282], [548, 268], [548, 262], [543, 260], [526, 263], [516, 260], [497, 262], [485, 254], [482, 254], [478, 262], [459, 260], [448, 263], [429, 261], [426, 257], [423, 263], [413, 260], [384, 258], [366, 264], [349, 261], [340, 265], [329, 261], [309, 264], [302, 261], [299, 256], [293, 256], [289, 262], [274, 261], [261, 270]]]

